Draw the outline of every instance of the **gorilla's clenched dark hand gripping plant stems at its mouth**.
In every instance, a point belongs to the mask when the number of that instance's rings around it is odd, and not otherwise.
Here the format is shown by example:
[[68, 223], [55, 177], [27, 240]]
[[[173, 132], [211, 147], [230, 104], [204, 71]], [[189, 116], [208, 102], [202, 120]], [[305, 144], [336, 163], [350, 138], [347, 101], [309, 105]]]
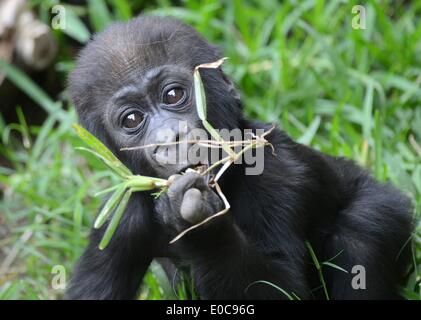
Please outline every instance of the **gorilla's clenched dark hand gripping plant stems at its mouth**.
[[171, 235], [176, 235], [223, 209], [222, 200], [201, 175], [188, 172], [173, 175], [170, 181], [168, 191], [156, 201], [156, 212]]

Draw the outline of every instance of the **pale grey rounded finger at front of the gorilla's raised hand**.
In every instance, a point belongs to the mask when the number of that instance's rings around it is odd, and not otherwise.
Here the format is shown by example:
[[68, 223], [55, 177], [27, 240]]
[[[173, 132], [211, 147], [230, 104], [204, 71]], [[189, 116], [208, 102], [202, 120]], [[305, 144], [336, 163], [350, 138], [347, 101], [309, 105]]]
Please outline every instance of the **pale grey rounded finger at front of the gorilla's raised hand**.
[[189, 189], [184, 194], [183, 202], [180, 208], [180, 214], [184, 220], [195, 224], [206, 218], [206, 212], [203, 210], [203, 196], [198, 189]]

